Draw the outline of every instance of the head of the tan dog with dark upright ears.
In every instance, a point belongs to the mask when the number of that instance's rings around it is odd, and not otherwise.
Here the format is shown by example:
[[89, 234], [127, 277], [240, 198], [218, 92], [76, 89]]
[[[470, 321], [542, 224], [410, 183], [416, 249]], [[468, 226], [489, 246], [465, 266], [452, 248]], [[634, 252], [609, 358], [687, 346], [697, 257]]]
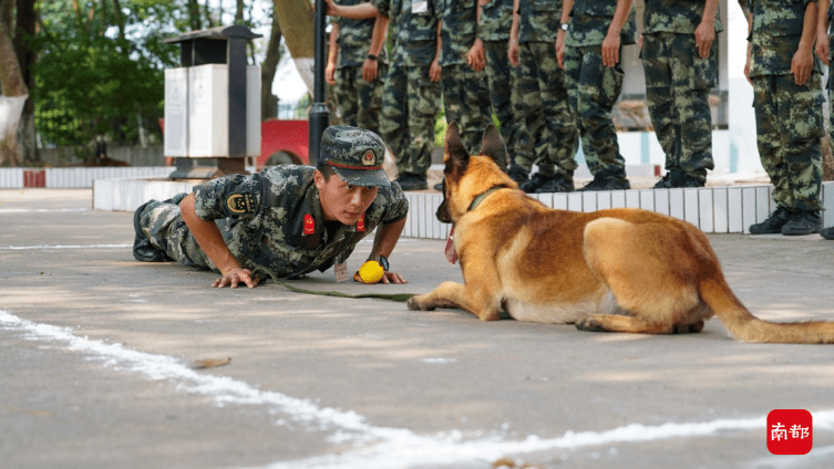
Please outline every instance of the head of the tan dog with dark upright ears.
[[443, 152], [443, 202], [437, 208], [437, 220], [456, 222], [469, 210], [478, 195], [492, 187], [517, 188], [506, 175], [509, 164], [507, 147], [498, 129], [490, 124], [481, 142], [481, 154], [470, 156], [461, 142], [457, 123], [449, 124]]

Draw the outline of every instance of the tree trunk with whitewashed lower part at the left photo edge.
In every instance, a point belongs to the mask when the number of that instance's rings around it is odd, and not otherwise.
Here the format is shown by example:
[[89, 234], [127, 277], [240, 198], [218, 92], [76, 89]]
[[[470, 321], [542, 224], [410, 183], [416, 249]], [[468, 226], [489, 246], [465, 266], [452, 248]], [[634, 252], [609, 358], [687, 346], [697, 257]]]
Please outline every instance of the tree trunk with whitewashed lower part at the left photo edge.
[[0, 165], [18, 166], [18, 123], [29, 95], [11, 40], [12, 1], [0, 0]]

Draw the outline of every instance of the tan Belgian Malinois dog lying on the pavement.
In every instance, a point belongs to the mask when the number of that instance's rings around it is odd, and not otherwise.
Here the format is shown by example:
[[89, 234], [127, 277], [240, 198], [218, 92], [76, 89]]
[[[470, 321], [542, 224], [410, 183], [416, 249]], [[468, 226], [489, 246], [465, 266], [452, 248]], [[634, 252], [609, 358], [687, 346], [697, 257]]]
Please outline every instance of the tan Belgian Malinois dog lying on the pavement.
[[834, 343], [832, 322], [752, 315], [694, 226], [640, 209], [547, 208], [502, 169], [507, 152], [494, 126], [477, 156], [466, 153], [455, 123], [445, 138], [437, 218], [453, 223], [465, 284], [443, 282], [411, 298], [411, 310], [454, 306], [494, 321], [503, 309], [518, 321], [645, 334], [700, 332], [715, 314], [741, 341]]

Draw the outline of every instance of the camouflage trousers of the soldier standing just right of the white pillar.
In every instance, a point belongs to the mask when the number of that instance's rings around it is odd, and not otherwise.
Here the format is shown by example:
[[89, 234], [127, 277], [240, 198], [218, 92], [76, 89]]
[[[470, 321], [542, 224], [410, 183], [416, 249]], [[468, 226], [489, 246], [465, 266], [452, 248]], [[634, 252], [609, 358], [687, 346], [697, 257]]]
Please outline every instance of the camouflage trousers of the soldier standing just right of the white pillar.
[[804, 85], [796, 85], [793, 75], [753, 79], [759, 156], [780, 207], [822, 209], [821, 85], [817, 74]]

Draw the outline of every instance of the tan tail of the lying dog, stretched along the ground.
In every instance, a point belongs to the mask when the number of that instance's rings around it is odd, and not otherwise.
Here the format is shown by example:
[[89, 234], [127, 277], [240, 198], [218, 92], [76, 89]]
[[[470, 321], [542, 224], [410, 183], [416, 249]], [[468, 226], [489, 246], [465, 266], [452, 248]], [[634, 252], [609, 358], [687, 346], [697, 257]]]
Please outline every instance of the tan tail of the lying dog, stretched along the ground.
[[700, 283], [701, 300], [712, 309], [733, 337], [744, 342], [832, 344], [834, 322], [773, 323], [754, 316], [730, 290], [723, 278]]

